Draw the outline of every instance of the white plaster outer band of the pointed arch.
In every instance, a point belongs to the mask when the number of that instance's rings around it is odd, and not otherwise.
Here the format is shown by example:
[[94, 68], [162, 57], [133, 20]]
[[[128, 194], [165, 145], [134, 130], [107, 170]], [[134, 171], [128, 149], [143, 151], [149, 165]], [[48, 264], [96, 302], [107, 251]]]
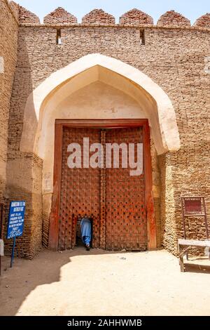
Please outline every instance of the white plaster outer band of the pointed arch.
[[180, 139], [178, 126], [176, 124], [176, 114], [172, 102], [165, 91], [146, 74], [131, 65], [98, 53], [85, 55], [83, 58], [52, 73], [50, 77], [45, 79], [45, 81], [29, 95], [25, 107], [20, 150], [23, 152], [34, 151], [34, 140], [41, 116], [41, 107], [46, 98], [48, 98], [48, 95], [59, 86], [62, 86], [65, 81], [97, 65], [111, 70], [112, 72], [116, 72], [116, 74], [120, 74], [151, 95], [151, 98], [155, 100], [157, 105], [158, 120], [162, 136], [163, 149], [162, 152], [159, 153], [179, 150]]

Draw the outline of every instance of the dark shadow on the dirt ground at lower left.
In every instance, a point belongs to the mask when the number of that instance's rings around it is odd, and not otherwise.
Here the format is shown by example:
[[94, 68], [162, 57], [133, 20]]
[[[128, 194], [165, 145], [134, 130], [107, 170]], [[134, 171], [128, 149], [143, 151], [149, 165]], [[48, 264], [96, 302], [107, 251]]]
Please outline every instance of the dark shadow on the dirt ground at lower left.
[[[2, 276], [0, 277], [0, 316], [16, 315], [29, 293], [37, 286], [59, 282], [61, 268], [67, 263], [71, 263], [71, 258], [74, 256], [113, 253], [119, 254], [120, 252], [101, 249], [86, 251], [81, 244], [78, 244], [74, 250], [68, 251], [52, 252], [43, 249], [33, 260], [15, 258], [12, 269], [10, 268], [10, 258], [3, 257]], [[125, 251], [121, 253], [125, 255]]]

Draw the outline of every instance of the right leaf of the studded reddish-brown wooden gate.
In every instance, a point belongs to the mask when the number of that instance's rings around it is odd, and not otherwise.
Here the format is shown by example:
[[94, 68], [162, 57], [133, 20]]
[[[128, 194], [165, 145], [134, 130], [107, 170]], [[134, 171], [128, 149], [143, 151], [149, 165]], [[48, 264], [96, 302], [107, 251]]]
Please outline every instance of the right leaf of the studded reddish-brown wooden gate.
[[[106, 133], [106, 143], [142, 143], [142, 128]], [[137, 156], [137, 150], [135, 150]], [[147, 248], [144, 173], [106, 169], [106, 249], [141, 251]]]

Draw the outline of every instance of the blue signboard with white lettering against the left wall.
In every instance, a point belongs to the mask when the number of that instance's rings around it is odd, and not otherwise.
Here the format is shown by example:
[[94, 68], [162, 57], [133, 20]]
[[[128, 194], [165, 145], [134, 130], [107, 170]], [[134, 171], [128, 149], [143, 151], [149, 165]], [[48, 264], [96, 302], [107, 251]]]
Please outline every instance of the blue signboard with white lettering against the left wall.
[[25, 201], [10, 202], [7, 239], [22, 236], [25, 216]]

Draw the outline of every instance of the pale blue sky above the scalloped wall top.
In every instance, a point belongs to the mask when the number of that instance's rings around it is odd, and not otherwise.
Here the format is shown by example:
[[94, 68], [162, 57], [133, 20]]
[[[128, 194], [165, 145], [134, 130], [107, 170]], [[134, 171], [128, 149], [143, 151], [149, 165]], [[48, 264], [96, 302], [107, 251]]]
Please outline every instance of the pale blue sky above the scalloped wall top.
[[21, 6], [43, 17], [57, 7], [73, 13], [80, 22], [81, 18], [94, 8], [102, 8], [113, 14], [116, 19], [132, 8], [141, 9], [157, 22], [160, 15], [174, 9], [191, 20], [192, 23], [205, 13], [210, 12], [210, 0], [16, 0]]

